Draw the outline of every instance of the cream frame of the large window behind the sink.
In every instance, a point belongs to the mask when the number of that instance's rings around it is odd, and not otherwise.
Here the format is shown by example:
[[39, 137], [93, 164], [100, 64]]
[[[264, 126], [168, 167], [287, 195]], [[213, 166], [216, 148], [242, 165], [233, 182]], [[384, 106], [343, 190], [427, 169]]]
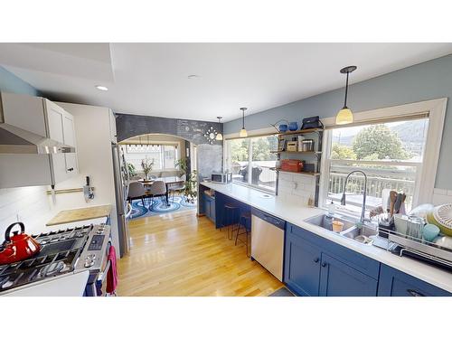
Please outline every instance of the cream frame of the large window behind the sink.
[[[415, 190], [413, 193], [413, 206], [420, 203], [432, 202], [435, 187], [435, 179], [438, 170], [439, 151], [441, 147], [441, 140], [444, 128], [444, 120], [446, 116], [447, 98], [432, 99], [427, 101], [420, 101], [406, 105], [393, 106], [390, 108], [379, 108], [368, 111], [353, 113], [353, 125], [377, 124], [379, 122], [387, 122], [391, 119], [410, 119], [419, 116], [422, 112], [428, 112], [428, 131], [426, 137], [426, 145], [422, 162], [381, 162], [379, 164], [385, 165], [420, 165], [420, 170], [417, 171]], [[386, 120], [386, 121], [385, 121]], [[319, 207], [326, 207], [325, 202], [328, 197], [328, 187], [330, 179], [330, 165], [334, 159], [329, 159], [332, 146], [331, 131], [334, 127], [348, 127], [353, 125], [337, 126], [335, 125], [335, 118], [322, 119], [325, 126], [325, 133], [323, 139], [324, 152], [321, 159], [321, 174], [320, 174], [320, 189], [319, 189]], [[339, 162], [347, 162], [348, 160], [338, 160]], [[353, 163], [353, 160], [350, 162]], [[356, 161], [354, 161], [356, 163]], [[360, 161], [362, 163], [362, 161]], [[326, 170], [328, 169], [328, 170]], [[423, 178], [423, 180], [420, 180]]]

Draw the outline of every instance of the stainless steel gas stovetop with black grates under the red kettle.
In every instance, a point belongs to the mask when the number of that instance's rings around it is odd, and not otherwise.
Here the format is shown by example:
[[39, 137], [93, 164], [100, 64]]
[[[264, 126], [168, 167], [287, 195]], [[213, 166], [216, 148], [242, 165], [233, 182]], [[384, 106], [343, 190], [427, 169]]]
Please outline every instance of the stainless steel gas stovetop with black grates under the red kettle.
[[105, 225], [33, 235], [42, 245], [41, 251], [30, 259], [0, 266], [0, 293], [74, 271], [99, 270], [105, 261], [108, 236]]

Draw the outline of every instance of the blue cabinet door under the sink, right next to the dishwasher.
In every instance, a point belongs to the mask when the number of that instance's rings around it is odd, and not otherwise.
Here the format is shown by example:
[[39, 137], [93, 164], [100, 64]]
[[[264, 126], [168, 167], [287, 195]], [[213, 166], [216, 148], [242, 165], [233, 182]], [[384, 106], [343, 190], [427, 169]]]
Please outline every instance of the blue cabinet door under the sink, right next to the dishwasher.
[[285, 251], [284, 282], [287, 287], [299, 296], [318, 296], [320, 248], [287, 235]]

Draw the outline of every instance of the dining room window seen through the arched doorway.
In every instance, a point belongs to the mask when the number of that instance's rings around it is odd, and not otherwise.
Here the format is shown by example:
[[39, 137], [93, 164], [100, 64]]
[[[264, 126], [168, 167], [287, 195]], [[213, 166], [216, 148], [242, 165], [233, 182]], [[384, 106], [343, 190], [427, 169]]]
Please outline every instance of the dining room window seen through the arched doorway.
[[176, 145], [126, 145], [126, 161], [140, 172], [141, 160], [146, 157], [154, 160], [153, 171], [174, 170], [174, 163], [179, 159]]

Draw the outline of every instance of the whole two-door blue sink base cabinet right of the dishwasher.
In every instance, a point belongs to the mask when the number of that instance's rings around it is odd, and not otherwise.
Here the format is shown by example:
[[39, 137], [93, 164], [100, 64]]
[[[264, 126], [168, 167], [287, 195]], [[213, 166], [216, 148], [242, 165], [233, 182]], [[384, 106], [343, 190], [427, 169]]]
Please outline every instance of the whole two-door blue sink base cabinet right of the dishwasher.
[[[287, 222], [284, 282], [298, 296], [375, 297], [380, 263]], [[362, 258], [363, 257], [363, 258]]]

